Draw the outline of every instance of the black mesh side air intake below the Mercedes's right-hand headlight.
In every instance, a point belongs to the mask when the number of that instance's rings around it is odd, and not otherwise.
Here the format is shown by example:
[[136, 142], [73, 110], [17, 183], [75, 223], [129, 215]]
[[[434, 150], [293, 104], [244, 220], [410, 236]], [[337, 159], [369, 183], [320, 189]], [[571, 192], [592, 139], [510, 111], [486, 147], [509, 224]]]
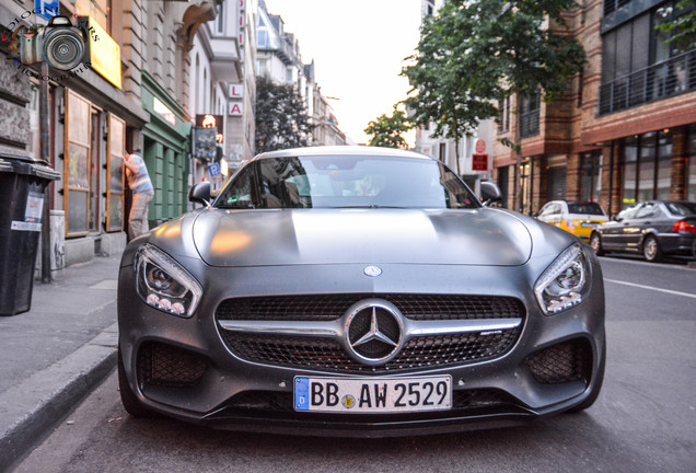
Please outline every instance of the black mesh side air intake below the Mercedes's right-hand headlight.
[[592, 349], [587, 339], [576, 338], [533, 353], [527, 357], [526, 366], [534, 379], [543, 384], [588, 382]]

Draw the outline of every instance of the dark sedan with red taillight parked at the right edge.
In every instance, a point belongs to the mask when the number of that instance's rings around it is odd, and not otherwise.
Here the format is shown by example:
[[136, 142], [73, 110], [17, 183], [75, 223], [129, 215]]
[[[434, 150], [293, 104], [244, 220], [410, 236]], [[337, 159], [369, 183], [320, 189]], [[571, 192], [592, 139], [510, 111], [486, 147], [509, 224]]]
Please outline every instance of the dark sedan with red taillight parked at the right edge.
[[639, 253], [649, 262], [666, 255], [696, 257], [696, 203], [639, 203], [596, 227], [590, 246], [598, 255]]

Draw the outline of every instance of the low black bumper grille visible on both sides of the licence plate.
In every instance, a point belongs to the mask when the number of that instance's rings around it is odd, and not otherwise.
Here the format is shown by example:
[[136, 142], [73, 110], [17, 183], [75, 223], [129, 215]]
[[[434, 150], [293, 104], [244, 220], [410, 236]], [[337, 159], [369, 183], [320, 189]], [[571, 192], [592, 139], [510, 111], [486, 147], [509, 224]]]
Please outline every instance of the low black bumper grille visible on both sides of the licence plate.
[[[267, 413], [293, 413], [291, 392], [245, 391], [232, 397], [228, 409], [256, 411]], [[514, 405], [513, 400], [497, 390], [467, 390], [452, 393], [452, 409], [471, 411]], [[306, 415], [303, 413], [302, 415]], [[413, 415], [413, 413], [411, 413]]]

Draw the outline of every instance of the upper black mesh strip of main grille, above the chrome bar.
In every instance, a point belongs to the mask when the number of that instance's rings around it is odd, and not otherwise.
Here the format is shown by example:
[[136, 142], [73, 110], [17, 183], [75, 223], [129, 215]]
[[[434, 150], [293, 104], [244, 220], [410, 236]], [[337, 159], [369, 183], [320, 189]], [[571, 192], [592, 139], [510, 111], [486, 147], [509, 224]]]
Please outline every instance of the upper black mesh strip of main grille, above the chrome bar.
[[513, 319], [522, 316], [519, 299], [492, 296], [441, 295], [320, 295], [227, 299], [218, 320], [330, 321], [364, 299], [383, 299], [411, 320]]

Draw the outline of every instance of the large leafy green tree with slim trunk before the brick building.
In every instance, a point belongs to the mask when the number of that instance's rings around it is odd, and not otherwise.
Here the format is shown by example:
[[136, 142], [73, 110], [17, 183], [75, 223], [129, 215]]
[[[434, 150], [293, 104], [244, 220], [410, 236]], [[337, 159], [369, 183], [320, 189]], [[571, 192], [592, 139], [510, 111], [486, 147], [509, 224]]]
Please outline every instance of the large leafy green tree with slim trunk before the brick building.
[[[575, 7], [573, 0], [445, 0], [424, 25], [416, 64], [403, 71], [417, 93], [406, 100], [416, 122], [434, 122], [436, 131], [446, 127], [456, 139], [460, 128], [497, 117], [494, 104], [507, 96], [517, 95], [520, 104], [540, 92], [545, 102], [565, 93], [585, 62], [561, 15]], [[517, 134], [506, 145], [517, 151], [519, 173], [521, 107], [515, 108]]]

